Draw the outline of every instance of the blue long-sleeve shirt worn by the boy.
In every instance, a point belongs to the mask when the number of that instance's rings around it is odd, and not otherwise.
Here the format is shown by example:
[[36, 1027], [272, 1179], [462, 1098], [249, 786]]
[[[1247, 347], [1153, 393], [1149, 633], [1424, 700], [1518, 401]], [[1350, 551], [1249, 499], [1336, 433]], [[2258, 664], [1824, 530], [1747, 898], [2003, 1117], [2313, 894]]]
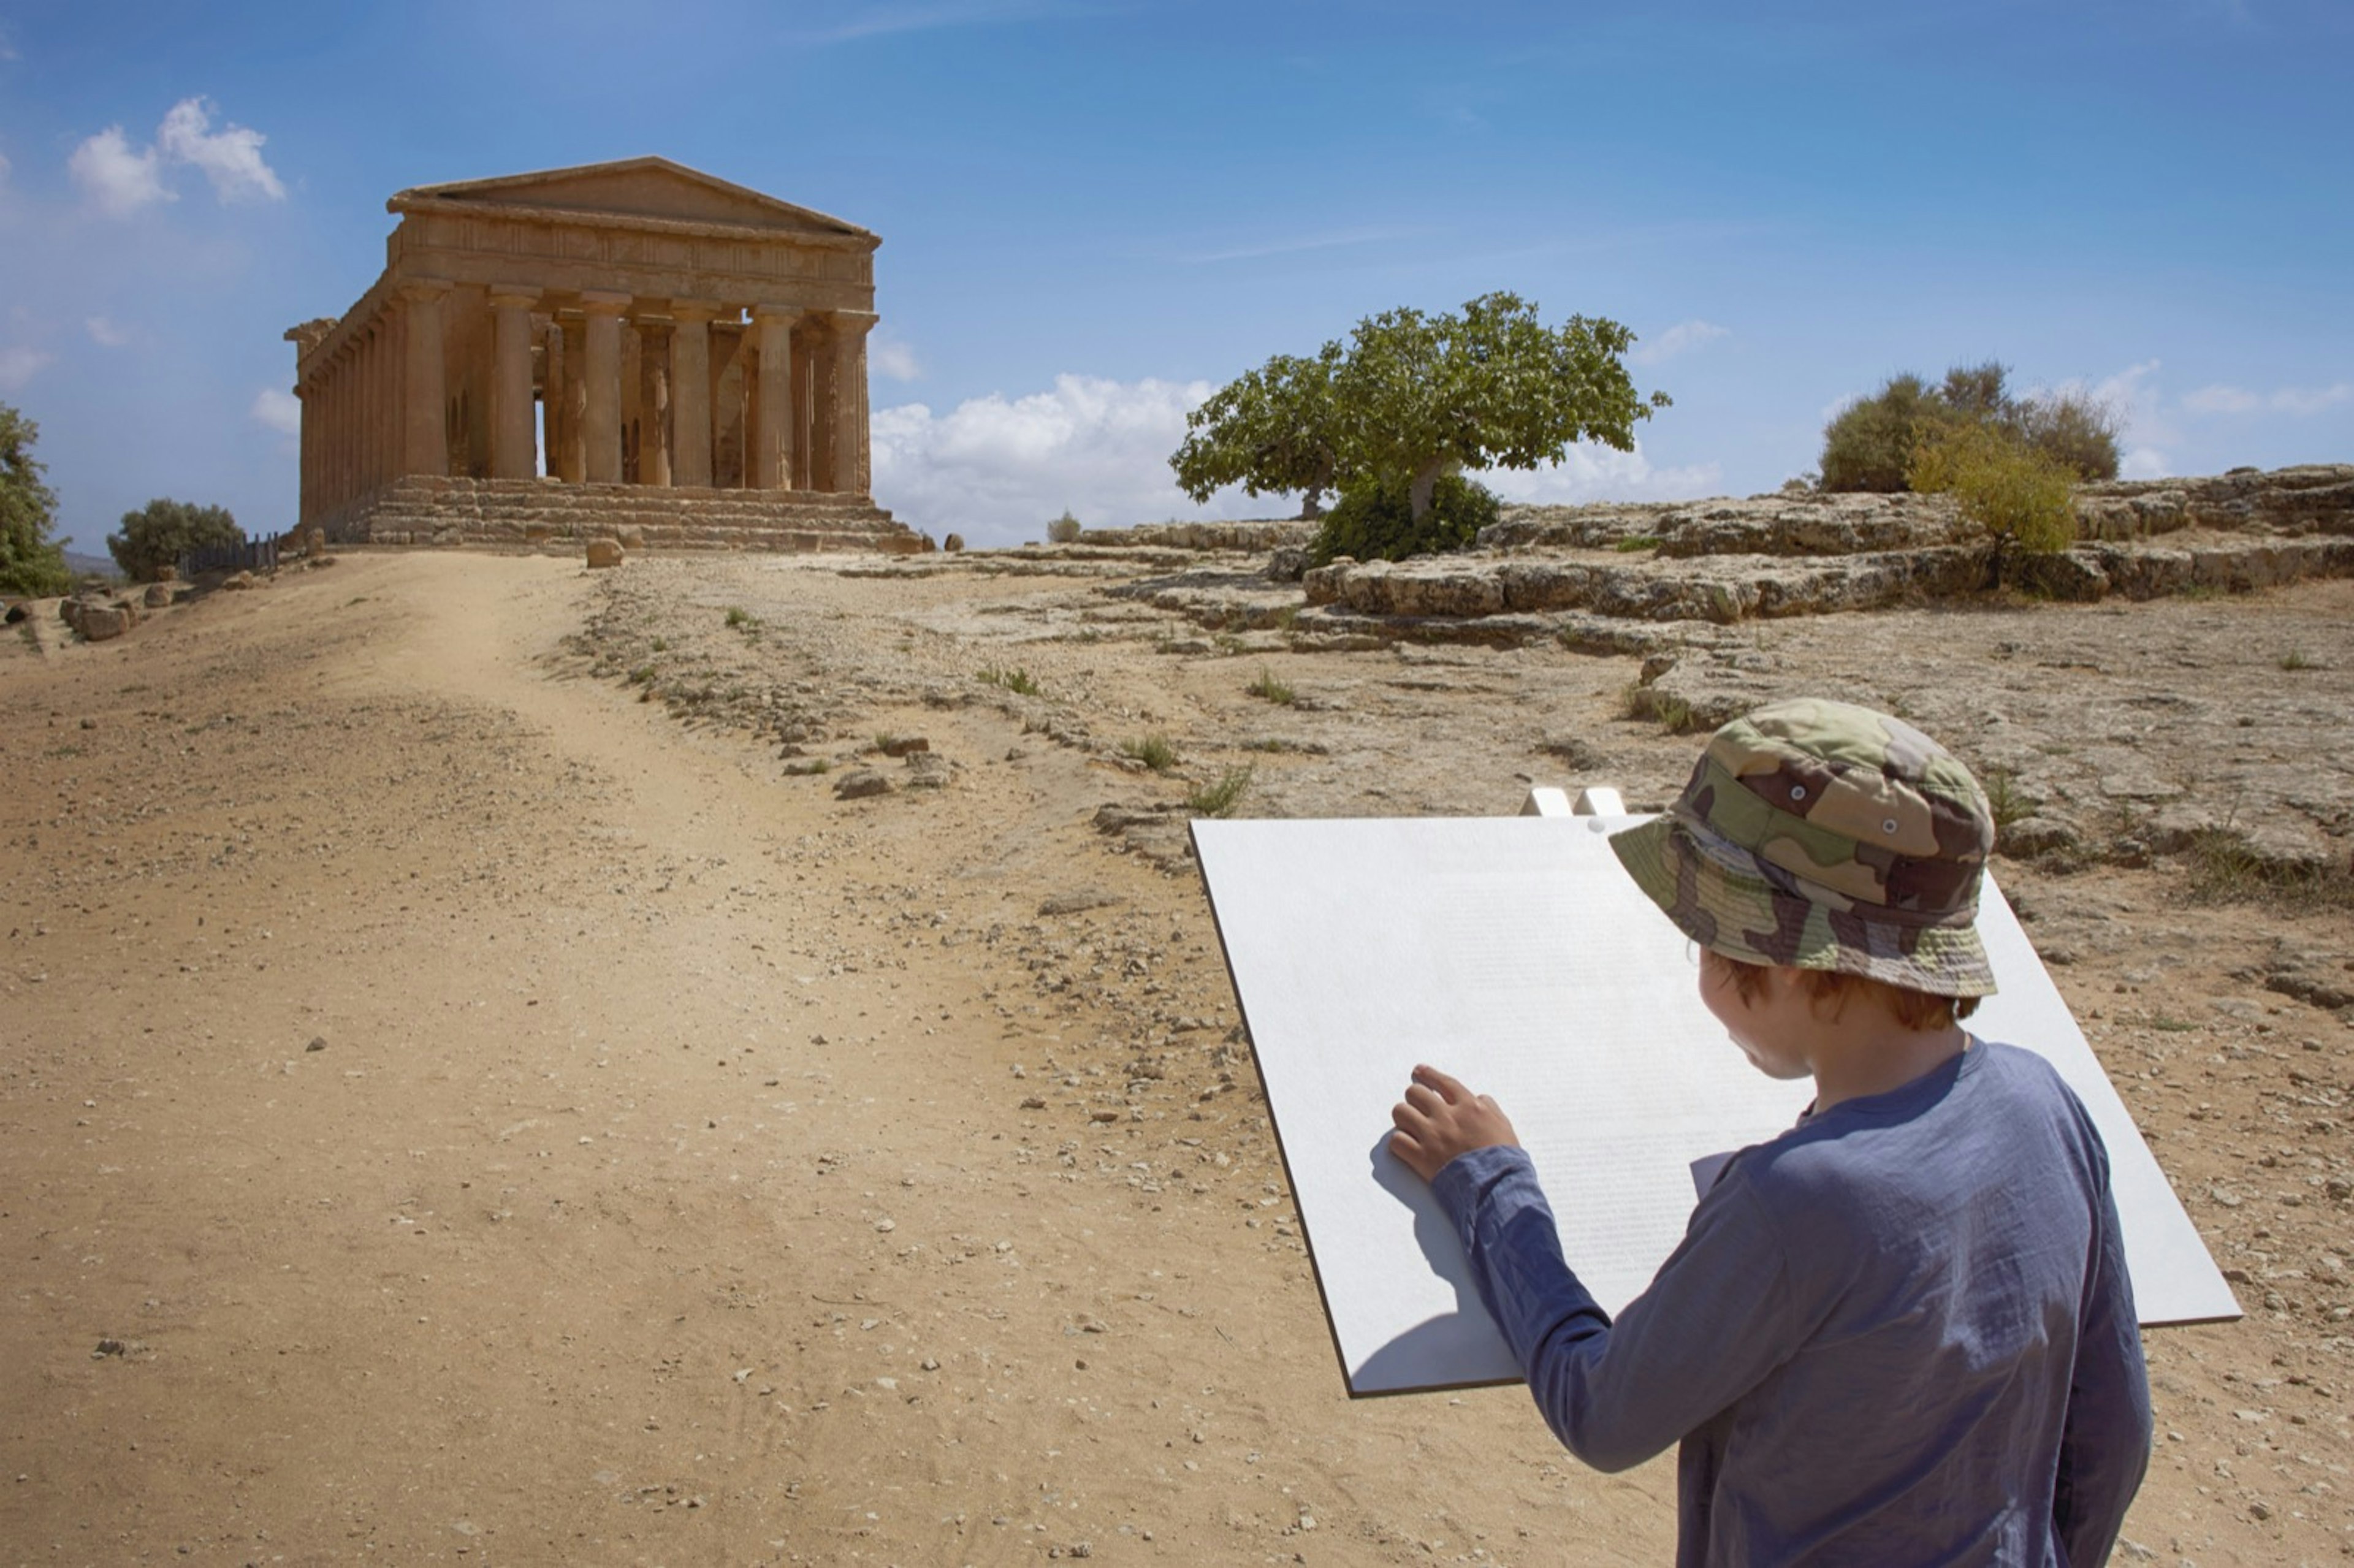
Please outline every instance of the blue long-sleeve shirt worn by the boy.
[[2036, 1055], [1973, 1043], [1737, 1154], [1612, 1323], [1521, 1149], [1431, 1184], [1544, 1420], [1683, 1443], [1685, 1568], [2107, 1561], [2149, 1462], [2109, 1156]]

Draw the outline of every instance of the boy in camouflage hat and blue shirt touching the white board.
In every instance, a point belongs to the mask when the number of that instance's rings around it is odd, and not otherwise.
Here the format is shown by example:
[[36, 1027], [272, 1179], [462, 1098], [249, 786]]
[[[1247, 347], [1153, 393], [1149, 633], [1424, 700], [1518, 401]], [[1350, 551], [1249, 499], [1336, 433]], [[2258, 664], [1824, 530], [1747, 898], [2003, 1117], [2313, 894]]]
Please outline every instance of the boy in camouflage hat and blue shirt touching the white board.
[[1612, 1323], [1497, 1104], [1415, 1069], [1391, 1151], [1544, 1420], [1598, 1469], [1681, 1441], [1685, 1566], [2107, 1561], [2149, 1460], [2133, 1285], [2083, 1107], [1961, 1029], [1994, 991], [1977, 782], [1895, 718], [1784, 702], [1610, 843], [1733, 1043], [1815, 1104], [1733, 1156]]

